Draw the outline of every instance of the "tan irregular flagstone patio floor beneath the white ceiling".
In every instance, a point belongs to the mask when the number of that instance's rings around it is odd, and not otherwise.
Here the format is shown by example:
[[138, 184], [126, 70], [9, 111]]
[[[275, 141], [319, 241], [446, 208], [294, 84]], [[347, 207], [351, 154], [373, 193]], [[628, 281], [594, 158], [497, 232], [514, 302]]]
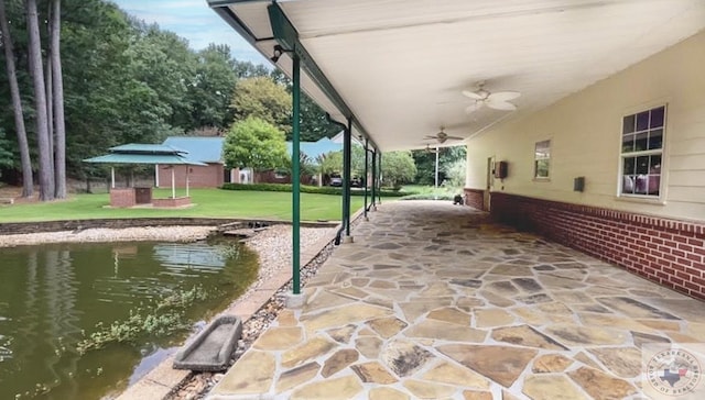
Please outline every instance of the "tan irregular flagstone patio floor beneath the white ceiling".
[[470, 208], [384, 203], [354, 237], [210, 399], [636, 399], [647, 344], [705, 342], [702, 302]]

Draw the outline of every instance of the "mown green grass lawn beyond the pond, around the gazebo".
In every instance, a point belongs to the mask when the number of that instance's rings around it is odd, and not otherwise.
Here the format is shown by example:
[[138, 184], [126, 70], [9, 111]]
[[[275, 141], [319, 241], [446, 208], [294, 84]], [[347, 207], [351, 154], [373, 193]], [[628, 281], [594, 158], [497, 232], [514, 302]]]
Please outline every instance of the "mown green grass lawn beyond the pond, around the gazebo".
[[[183, 196], [183, 189], [176, 196]], [[108, 193], [70, 195], [68, 200], [54, 202], [15, 203], [0, 205], [0, 223], [88, 220], [110, 218], [235, 218], [291, 221], [291, 193], [274, 191], [242, 191], [221, 189], [192, 189], [191, 208], [111, 209]], [[155, 189], [154, 198], [167, 198], [171, 189]], [[388, 199], [389, 200], [389, 199]], [[368, 199], [369, 201], [369, 199]], [[362, 208], [364, 198], [351, 198], [350, 213]], [[340, 196], [301, 193], [302, 221], [340, 221]]]

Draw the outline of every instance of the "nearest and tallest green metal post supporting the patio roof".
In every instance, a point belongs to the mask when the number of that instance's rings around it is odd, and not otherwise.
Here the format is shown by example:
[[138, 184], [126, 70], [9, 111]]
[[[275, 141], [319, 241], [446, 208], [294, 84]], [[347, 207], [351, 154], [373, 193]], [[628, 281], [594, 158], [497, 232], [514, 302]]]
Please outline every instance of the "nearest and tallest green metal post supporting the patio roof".
[[301, 122], [301, 70], [299, 55], [293, 57], [293, 87], [292, 87], [292, 291], [294, 295], [301, 293], [301, 158], [300, 158], [300, 122]]

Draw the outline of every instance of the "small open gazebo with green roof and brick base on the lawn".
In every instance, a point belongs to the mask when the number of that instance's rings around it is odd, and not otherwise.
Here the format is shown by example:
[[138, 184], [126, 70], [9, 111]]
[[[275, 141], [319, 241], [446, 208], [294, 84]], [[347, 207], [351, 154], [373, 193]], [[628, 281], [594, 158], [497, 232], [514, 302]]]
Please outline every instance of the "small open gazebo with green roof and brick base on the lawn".
[[[191, 203], [188, 197], [188, 168], [186, 169], [186, 196], [176, 197], [174, 176], [175, 165], [205, 166], [197, 160], [188, 158], [188, 152], [163, 144], [130, 143], [109, 148], [110, 153], [84, 159], [86, 163], [110, 165], [110, 205], [132, 207], [135, 204], [151, 203], [155, 207], [181, 207]], [[116, 188], [116, 165], [165, 165], [172, 169], [172, 197], [169, 199], [152, 199], [151, 188]]]

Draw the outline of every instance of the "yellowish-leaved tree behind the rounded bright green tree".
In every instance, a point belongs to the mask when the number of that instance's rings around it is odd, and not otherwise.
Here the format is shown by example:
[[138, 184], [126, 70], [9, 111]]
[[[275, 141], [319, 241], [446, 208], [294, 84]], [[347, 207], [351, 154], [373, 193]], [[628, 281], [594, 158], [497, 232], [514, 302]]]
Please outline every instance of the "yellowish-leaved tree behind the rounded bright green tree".
[[282, 132], [291, 132], [291, 96], [269, 77], [238, 81], [230, 107], [236, 121], [256, 116]]

